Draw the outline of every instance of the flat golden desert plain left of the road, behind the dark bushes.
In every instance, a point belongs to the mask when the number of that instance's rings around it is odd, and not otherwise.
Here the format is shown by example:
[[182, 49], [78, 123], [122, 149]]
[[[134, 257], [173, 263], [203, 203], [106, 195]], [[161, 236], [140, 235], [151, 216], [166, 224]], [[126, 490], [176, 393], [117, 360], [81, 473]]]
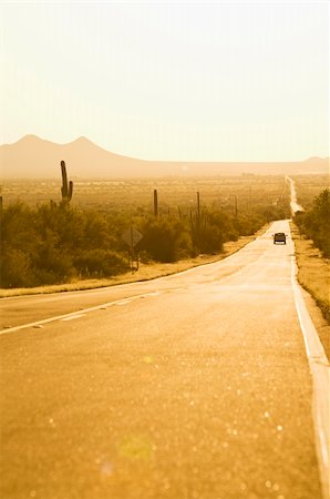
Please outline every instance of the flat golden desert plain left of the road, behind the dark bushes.
[[[31, 206], [61, 198], [61, 177], [58, 180], [2, 180], [3, 206], [22, 201]], [[153, 210], [153, 191], [158, 190], [159, 213], [188, 214], [196, 206], [196, 191], [200, 192], [202, 206], [216, 206], [235, 213], [259, 205], [277, 203], [287, 190], [282, 175], [236, 175], [206, 177], [159, 177], [74, 180], [73, 207], [95, 208], [102, 212], [131, 213], [138, 207]]]

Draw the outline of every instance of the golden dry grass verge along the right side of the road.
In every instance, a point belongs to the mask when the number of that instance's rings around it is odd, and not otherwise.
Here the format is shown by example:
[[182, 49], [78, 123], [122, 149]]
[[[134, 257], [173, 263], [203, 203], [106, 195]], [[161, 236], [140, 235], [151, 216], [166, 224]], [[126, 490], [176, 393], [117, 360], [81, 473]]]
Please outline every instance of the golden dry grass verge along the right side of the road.
[[[330, 261], [322, 257], [312, 241], [300, 235], [293, 223], [291, 223], [291, 234], [296, 246], [298, 281], [313, 298], [313, 302], [307, 301], [309, 312], [326, 354], [330, 358]], [[322, 315], [317, 308], [322, 312]]]

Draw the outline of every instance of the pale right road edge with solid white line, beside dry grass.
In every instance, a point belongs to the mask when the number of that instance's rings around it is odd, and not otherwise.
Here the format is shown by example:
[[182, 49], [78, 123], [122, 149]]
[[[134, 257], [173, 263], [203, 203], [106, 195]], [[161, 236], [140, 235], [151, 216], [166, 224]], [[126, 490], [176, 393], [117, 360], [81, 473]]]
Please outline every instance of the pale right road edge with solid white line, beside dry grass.
[[313, 381], [313, 419], [323, 498], [330, 499], [330, 365], [297, 281], [295, 255], [291, 255], [291, 284]]

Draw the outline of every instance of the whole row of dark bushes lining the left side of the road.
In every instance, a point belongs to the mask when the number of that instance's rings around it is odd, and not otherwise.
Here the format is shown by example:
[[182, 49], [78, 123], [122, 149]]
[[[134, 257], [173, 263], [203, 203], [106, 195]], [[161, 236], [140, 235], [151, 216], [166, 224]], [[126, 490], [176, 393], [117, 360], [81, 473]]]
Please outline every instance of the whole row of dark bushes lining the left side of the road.
[[130, 226], [143, 234], [136, 246], [143, 264], [175, 263], [200, 254], [219, 254], [224, 243], [249, 236], [267, 222], [289, 216], [283, 179], [271, 179], [271, 195], [266, 198], [255, 189], [258, 184], [259, 191], [265, 190], [259, 179], [255, 184], [248, 180], [255, 196], [244, 181], [245, 197], [236, 194], [234, 204], [228, 195], [233, 186], [229, 183], [219, 203], [212, 196], [206, 203], [204, 196], [199, 205], [198, 196], [198, 206], [194, 206], [189, 192], [188, 203], [161, 203], [157, 214], [147, 203], [137, 204], [133, 196], [126, 207], [121, 203], [112, 207], [74, 205], [65, 198], [34, 205], [24, 201], [6, 203], [3, 196], [1, 287], [34, 287], [125, 274], [130, 271], [130, 257], [122, 235]]

